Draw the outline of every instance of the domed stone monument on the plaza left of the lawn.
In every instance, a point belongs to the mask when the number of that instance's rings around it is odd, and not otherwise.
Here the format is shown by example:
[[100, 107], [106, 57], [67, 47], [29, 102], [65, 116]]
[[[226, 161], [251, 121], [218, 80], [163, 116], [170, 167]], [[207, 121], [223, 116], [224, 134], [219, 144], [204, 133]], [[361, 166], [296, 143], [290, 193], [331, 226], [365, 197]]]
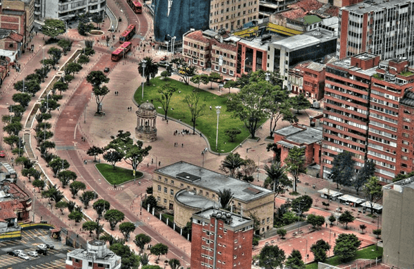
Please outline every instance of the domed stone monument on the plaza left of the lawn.
[[137, 114], [137, 128], [135, 128], [135, 138], [144, 142], [152, 142], [157, 140], [157, 110], [154, 105], [142, 103]]

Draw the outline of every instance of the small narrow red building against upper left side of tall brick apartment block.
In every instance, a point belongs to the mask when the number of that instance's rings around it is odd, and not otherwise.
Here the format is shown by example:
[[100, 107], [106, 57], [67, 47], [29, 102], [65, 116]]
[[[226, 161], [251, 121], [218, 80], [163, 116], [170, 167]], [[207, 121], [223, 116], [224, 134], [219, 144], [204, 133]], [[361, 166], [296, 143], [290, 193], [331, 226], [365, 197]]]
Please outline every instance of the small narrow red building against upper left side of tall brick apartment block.
[[304, 67], [303, 92], [308, 98], [321, 100], [324, 98], [325, 65], [311, 63]]

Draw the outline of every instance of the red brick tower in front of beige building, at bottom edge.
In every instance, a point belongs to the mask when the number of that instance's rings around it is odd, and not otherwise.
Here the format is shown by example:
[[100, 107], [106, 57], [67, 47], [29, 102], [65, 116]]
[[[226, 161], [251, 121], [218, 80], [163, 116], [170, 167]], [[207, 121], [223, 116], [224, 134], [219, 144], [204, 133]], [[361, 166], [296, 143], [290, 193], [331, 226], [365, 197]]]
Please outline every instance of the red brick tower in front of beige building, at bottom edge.
[[193, 214], [191, 268], [250, 269], [253, 220], [208, 208]]

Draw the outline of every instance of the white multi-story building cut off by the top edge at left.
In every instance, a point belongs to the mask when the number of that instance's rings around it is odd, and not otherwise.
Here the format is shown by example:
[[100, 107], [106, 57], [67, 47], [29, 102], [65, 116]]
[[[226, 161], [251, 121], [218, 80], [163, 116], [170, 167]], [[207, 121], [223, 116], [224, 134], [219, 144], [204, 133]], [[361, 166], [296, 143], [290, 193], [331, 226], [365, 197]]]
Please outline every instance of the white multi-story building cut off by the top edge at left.
[[34, 19], [46, 18], [68, 21], [86, 12], [103, 15], [106, 0], [34, 0]]

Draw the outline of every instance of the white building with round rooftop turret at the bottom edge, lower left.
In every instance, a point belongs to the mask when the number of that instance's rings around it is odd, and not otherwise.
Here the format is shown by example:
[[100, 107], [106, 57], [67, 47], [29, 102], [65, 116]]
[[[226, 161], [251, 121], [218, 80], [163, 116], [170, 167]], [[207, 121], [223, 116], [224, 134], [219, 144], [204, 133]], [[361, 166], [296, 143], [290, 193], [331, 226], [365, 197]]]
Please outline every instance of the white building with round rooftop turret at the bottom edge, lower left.
[[68, 252], [66, 257], [66, 269], [81, 268], [119, 269], [121, 257], [108, 250], [106, 241], [90, 240], [86, 250], [77, 248]]

